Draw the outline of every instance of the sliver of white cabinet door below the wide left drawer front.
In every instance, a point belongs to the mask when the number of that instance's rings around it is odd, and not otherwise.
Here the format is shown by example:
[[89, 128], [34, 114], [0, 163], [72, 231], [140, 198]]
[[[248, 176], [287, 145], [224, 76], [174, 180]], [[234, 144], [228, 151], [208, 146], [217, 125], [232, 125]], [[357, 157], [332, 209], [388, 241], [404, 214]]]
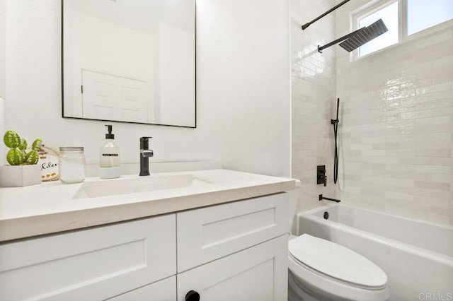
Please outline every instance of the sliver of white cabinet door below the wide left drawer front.
[[108, 299], [109, 301], [175, 301], [176, 276], [145, 285], [137, 290]]

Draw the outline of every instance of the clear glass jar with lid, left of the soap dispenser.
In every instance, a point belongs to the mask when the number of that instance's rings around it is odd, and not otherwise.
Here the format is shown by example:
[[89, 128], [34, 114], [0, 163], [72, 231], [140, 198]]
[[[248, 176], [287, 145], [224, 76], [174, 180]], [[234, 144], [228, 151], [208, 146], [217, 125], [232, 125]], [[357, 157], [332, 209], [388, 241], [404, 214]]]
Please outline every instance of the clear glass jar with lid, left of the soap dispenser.
[[64, 183], [78, 183], [85, 179], [85, 155], [81, 146], [59, 148], [59, 179]]

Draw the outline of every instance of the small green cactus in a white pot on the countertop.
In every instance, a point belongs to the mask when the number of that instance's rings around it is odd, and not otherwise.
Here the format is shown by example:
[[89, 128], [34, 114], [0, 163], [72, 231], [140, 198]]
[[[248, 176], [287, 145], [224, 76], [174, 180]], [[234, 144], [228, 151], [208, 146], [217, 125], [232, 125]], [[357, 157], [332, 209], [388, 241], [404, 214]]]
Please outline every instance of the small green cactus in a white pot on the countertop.
[[9, 165], [0, 166], [0, 187], [23, 187], [41, 182], [41, 167], [37, 165], [42, 141], [36, 138], [28, 151], [28, 143], [15, 131], [8, 130], [3, 141], [9, 148], [6, 161]]

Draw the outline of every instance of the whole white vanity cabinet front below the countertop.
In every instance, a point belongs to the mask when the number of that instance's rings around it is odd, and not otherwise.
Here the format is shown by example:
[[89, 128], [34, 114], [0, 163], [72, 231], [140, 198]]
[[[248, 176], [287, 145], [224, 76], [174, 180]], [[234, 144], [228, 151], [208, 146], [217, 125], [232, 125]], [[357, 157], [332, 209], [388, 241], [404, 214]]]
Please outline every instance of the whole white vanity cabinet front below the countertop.
[[286, 300], [289, 194], [0, 244], [0, 300]]

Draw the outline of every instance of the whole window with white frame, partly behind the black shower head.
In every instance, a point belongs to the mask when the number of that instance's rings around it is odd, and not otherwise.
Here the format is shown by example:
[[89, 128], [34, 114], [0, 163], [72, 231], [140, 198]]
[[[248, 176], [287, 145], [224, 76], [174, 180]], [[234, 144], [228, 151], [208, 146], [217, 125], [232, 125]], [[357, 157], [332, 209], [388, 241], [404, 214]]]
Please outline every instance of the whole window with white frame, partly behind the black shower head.
[[453, 0], [392, 0], [372, 1], [353, 15], [354, 29], [381, 19], [388, 31], [359, 47], [355, 57], [363, 57], [394, 45], [432, 26], [453, 18]]

